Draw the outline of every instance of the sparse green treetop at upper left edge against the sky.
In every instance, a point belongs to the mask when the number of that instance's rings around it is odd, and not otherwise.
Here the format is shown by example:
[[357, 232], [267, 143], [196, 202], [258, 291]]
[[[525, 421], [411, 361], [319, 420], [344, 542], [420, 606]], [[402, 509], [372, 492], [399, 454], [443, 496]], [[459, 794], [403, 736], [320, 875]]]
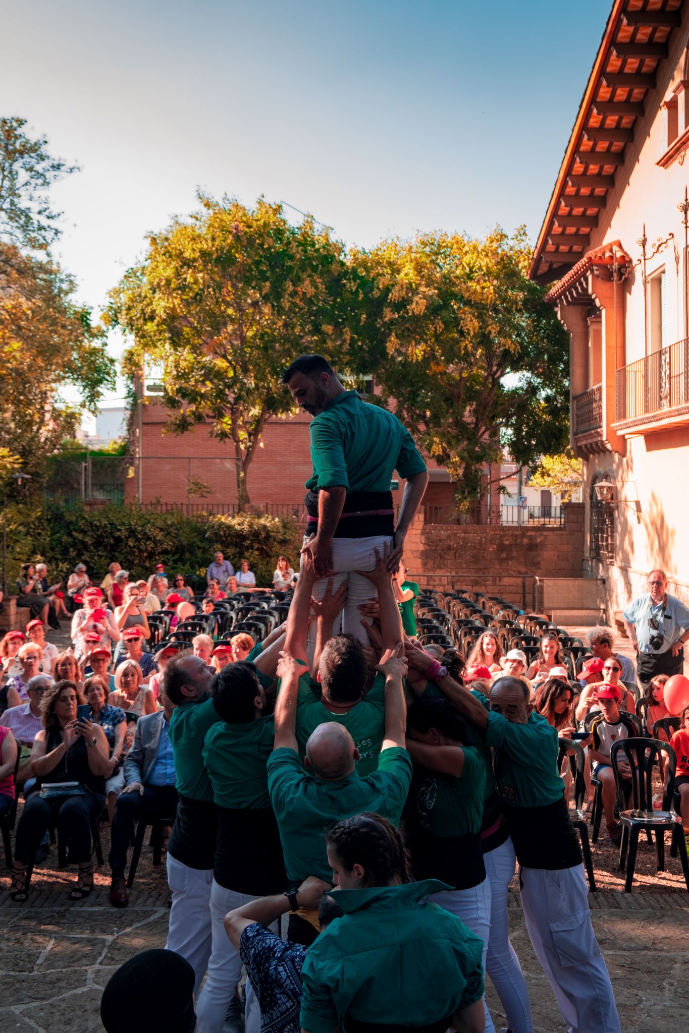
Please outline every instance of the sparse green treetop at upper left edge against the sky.
[[[31, 139], [26, 119], [0, 119], [0, 241], [20, 248], [44, 251], [60, 236], [62, 215], [51, 205], [53, 183], [77, 171], [45, 150], [44, 136]], [[5, 251], [2, 257], [13, 256]]]

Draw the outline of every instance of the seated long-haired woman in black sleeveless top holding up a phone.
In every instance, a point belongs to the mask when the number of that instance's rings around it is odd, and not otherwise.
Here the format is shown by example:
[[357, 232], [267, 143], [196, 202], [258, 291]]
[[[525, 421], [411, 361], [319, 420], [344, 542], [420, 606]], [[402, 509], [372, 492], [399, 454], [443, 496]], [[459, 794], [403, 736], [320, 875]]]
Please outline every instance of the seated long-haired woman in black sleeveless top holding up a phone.
[[[86, 716], [77, 717], [80, 693], [73, 682], [61, 681], [41, 696], [43, 729], [34, 740], [31, 786], [17, 826], [11, 898], [27, 899], [27, 869], [51, 822], [69, 843], [69, 856], [79, 865], [79, 878], [69, 897], [81, 900], [93, 888], [91, 822], [105, 803], [105, 776], [109, 771], [107, 740], [103, 729]], [[67, 785], [61, 790], [60, 783]], [[44, 787], [44, 788], [43, 788]]]

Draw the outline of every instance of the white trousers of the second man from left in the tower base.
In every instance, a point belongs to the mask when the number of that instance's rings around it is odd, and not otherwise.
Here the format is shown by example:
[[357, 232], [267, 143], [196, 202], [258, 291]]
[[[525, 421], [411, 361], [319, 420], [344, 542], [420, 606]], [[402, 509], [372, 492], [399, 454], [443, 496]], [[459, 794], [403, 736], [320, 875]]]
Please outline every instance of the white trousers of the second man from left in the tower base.
[[[222, 1033], [227, 1006], [234, 996], [238, 982], [242, 978], [242, 959], [230, 943], [223, 926], [223, 919], [228, 911], [258, 899], [258, 897], [248, 897], [246, 894], [225, 889], [215, 879], [213, 880], [211, 887], [213, 948], [208, 964], [208, 979], [196, 1004], [196, 1033]], [[273, 922], [270, 929], [277, 934], [277, 921]], [[260, 1009], [248, 979], [244, 1022], [245, 1033], [259, 1033]]]

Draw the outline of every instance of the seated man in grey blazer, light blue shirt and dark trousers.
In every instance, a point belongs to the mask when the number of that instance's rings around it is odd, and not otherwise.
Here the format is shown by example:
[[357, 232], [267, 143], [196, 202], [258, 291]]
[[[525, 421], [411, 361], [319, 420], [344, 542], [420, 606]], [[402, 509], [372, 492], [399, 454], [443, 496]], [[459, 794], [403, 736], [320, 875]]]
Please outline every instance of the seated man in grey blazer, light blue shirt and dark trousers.
[[161, 702], [162, 710], [139, 717], [134, 742], [124, 761], [125, 786], [115, 805], [107, 858], [113, 873], [109, 893], [113, 907], [126, 907], [129, 903], [124, 870], [133, 822], [142, 818], [174, 819], [177, 812], [175, 758], [169, 741], [174, 707], [164, 693]]

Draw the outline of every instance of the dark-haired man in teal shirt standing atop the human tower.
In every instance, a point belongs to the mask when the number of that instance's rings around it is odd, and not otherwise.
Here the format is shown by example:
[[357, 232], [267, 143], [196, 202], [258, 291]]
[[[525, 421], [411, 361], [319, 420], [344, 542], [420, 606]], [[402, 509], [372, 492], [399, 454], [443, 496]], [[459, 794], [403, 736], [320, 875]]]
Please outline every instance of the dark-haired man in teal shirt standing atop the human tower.
[[[347, 581], [343, 630], [368, 645], [358, 606], [372, 592], [356, 571], [371, 570], [374, 546], [382, 551], [390, 537], [395, 546], [389, 568], [397, 570], [428, 483], [426, 463], [398, 417], [364, 402], [357, 392], [346, 390], [321, 355], [300, 355], [283, 373], [282, 382], [300, 408], [314, 417], [304, 554], [312, 558], [317, 577], [323, 578], [331, 569], [338, 571], [336, 590]], [[395, 470], [407, 480], [397, 527], [390, 492]], [[324, 591], [321, 581], [314, 587], [314, 597], [320, 599]]]

